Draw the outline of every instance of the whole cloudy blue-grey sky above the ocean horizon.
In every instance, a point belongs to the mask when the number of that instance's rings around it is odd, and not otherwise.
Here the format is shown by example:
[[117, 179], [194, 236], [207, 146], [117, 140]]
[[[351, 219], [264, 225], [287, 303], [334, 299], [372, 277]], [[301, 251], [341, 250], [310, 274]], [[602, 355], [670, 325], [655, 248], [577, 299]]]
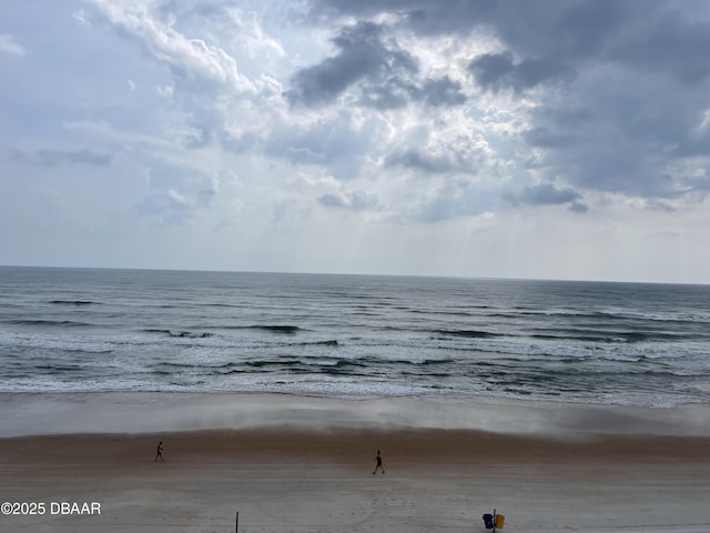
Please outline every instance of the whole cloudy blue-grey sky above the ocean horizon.
[[3, 0], [0, 264], [710, 283], [710, 3]]

